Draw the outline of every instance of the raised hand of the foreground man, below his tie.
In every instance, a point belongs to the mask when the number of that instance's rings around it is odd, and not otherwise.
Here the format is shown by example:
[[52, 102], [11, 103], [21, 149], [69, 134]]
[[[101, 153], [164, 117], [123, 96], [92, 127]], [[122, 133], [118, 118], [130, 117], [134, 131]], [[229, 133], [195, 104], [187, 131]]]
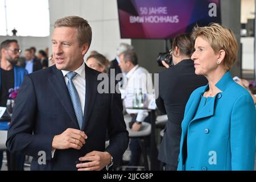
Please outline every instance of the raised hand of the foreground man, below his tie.
[[84, 131], [69, 128], [60, 135], [53, 137], [52, 150], [68, 148], [80, 150], [85, 144], [85, 139], [87, 139], [87, 135]]

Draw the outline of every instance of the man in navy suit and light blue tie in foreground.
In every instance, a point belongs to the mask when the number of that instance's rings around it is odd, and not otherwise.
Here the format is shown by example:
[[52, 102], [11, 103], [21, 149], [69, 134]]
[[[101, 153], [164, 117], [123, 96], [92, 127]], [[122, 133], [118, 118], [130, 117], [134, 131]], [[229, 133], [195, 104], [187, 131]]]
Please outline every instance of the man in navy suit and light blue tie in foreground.
[[79, 16], [61, 18], [54, 27], [56, 65], [25, 77], [6, 146], [33, 156], [32, 170], [90, 171], [118, 164], [129, 137], [121, 96], [97, 92], [100, 72], [84, 63], [92, 30]]

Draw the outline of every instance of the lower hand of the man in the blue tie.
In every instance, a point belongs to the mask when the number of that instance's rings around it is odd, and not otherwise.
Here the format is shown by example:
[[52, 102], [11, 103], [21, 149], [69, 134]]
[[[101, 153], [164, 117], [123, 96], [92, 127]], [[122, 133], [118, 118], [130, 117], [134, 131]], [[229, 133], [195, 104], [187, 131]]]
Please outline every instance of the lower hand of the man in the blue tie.
[[76, 164], [78, 171], [100, 171], [111, 162], [109, 152], [92, 151], [79, 158], [79, 161], [89, 161], [87, 163]]

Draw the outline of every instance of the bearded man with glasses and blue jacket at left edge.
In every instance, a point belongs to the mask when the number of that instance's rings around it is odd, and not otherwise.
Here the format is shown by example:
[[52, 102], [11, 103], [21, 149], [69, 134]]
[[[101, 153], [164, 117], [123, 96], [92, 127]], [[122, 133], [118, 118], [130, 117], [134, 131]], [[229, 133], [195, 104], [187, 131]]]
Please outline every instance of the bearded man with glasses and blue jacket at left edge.
[[[0, 50], [0, 107], [6, 107], [6, 102], [9, 98], [9, 89], [20, 86], [22, 84], [23, 77], [27, 75], [27, 71], [24, 68], [16, 66], [21, 53], [17, 40], [5, 40], [1, 43]], [[8, 129], [9, 121], [1, 121], [0, 130]], [[2, 158], [3, 153], [0, 152], [0, 169], [2, 166]], [[7, 158], [9, 158], [9, 170], [23, 169], [23, 156], [14, 155], [7, 152]], [[20, 162], [18, 163], [18, 161]]]

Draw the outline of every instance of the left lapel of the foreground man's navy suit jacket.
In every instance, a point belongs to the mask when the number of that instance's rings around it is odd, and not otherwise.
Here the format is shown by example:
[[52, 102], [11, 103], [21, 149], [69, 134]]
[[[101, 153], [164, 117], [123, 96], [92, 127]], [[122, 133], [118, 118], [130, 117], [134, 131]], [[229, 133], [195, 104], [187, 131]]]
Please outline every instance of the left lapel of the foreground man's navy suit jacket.
[[71, 121], [74, 123], [75, 128], [79, 129], [79, 124], [76, 119], [75, 111], [73, 109], [72, 101], [68, 93], [68, 88], [65, 83], [63, 73], [55, 68], [56, 72], [52, 77], [48, 78], [56, 96], [59, 98], [61, 104], [63, 105], [65, 111], [67, 111]]

